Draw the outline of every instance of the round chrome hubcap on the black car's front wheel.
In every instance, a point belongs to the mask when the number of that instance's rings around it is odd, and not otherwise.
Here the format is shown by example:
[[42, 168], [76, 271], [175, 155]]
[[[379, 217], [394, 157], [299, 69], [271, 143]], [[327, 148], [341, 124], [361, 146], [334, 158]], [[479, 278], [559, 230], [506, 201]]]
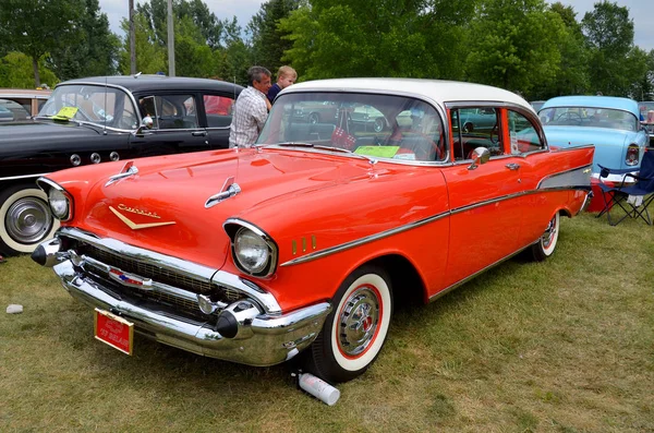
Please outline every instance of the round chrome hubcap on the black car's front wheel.
[[19, 243], [35, 243], [52, 228], [52, 216], [48, 205], [36, 197], [24, 197], [9, 208], [4, 227], [9, 236]]

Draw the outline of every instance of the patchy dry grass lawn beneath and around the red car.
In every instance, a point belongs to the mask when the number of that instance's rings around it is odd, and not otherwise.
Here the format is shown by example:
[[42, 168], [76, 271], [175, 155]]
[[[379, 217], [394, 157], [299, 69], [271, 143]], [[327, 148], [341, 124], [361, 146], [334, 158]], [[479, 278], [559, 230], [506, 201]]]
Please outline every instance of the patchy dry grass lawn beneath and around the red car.
[[[561, 219], [544, 263], [508, 261], [423, 308], [328, 407], [286, 365], [93, 338], [92, 311], [28, 256], [0, 264], [3, 432], [653, 432], [654, 227]], [[10, 315], [10, 303], [24, 305]]]

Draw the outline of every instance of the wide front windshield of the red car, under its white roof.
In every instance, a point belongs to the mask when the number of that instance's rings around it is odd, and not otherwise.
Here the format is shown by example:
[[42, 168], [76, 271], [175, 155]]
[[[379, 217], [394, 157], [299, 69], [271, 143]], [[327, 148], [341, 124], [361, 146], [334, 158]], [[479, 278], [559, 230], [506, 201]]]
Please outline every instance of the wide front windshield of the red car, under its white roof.
[[360, 155], [434, 161], [445, 158], [434, 107], [401, 96], [291, 93], [272, 106], [257, 144], [304, 143]]

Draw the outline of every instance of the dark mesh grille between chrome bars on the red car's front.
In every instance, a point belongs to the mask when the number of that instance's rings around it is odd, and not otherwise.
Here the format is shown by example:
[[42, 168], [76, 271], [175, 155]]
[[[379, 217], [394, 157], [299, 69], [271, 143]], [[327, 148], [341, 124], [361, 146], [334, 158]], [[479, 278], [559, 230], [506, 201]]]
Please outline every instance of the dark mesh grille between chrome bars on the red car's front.
[[[165, 284], [192, 293], [211, 294], [211, 299], [218, 299], [225, 303], [232, 303], [243, 297], [243, 293], [231, 288], [211, 285], [208, 280], [193, 278], [168, 268], [153, 265], [152, 263], [125, 257], [124, 255], [108, 252], [89, 243], [77, 242], [74, 250], [78, 255], [94, 258], [104, 265], [118, 268], [123, 273], [133, 274], [143, 279], [152, 279], [155, 282]], [[93, 278], [98, 280], [98, 282], [101, 282], [102, 286], [111, 288], [111, 290], [117, 291], [122, 296], [137, 297], [140, 299], [179, 308], [193, 316], [198, 316], [198, 314], [202, 315], [195, 299], [189, 299], [169, 292], [121, 285], [116, 280], [108, 278], [106, 272], [87, 272], [92, 273]]]

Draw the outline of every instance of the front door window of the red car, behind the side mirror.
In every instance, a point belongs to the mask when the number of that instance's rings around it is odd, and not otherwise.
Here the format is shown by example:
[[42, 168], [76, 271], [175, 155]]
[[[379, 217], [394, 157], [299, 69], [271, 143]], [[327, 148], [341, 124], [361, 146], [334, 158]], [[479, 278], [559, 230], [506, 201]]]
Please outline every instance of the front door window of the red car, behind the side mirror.
[[499, 110], [492, 107], [465, 107], [450, 112], [455, 160], [470, 159], [472, 151], [485, 147], [491, 156], [504, 155]]

